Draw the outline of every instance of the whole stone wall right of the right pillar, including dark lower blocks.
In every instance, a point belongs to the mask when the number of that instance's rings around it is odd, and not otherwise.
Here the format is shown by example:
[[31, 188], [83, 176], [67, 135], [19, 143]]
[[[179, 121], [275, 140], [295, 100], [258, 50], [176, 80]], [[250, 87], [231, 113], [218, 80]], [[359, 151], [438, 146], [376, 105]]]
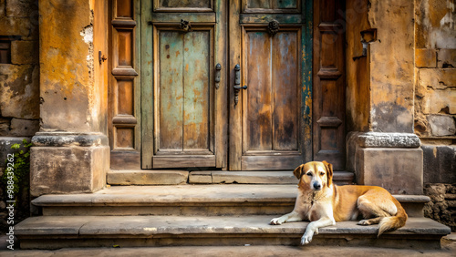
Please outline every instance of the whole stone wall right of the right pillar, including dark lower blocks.
[[415, 1], [415, 133], [424, 214], [456, 231], [456, 1]]

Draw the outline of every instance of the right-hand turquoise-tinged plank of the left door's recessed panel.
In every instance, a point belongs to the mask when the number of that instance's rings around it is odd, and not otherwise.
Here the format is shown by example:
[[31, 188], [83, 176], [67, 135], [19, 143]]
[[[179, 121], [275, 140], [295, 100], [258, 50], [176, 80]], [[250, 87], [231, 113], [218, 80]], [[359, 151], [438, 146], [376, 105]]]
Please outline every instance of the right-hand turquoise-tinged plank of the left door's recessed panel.
[[183, 44], [183, 149], [209, 149], [210, 33], [187, 33]]

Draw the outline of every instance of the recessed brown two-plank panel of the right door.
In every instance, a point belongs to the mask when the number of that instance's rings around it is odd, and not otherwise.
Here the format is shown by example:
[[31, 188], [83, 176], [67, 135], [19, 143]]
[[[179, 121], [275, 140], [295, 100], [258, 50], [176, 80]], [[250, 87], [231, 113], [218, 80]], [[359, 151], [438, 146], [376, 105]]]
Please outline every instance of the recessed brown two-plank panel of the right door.
[[298, 154], [298, 31], [245, 33], [244, 152], [295, 150]]

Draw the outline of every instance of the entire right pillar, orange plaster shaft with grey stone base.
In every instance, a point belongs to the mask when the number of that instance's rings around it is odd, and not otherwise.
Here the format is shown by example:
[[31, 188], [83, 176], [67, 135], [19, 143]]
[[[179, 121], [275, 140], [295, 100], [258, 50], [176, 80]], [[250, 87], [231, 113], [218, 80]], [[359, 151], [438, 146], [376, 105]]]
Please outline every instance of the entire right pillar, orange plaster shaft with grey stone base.
[[358, 184], [422, 194], [422, 150], [413, 134], [413, 1], [367, 3], [347, 1], [347, 124], [356, 131], [347, 136], [347, 169]]

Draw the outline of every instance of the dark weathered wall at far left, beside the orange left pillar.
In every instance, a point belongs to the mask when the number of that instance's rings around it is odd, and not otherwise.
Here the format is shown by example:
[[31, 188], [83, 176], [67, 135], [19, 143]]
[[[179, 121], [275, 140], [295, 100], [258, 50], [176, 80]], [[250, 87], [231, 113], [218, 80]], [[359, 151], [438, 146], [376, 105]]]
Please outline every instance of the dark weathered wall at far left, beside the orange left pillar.
[[0, 137], [30, 137], [39, 129], [37, 1], [0, 0], [0, 40], [11, 44], [0, 64]]

